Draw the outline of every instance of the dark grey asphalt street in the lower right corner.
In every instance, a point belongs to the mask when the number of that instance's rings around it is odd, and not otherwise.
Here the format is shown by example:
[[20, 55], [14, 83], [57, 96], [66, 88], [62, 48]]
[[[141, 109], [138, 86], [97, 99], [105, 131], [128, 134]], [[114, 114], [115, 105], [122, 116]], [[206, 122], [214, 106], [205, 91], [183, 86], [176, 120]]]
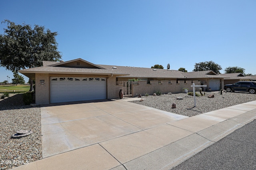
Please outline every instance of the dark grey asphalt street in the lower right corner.
[[172, 170], [255, 170], [256, 119]]

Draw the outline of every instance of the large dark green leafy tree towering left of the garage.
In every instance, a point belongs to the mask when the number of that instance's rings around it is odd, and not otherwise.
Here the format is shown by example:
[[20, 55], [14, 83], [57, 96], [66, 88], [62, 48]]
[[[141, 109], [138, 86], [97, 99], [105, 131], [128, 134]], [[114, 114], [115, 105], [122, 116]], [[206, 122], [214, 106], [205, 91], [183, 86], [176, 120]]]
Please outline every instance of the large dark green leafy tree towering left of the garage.
[[[62, 55], [56, 42], [57, 32], [51, 32], [44, 26], [23, 23], [16, 24], [9, 20], [0, 34], [0, 66], [12, 72], [20, 69], [42, 66], [42, 61], [58, 61]], [[30, 91], [33, 90], [33, 80], [30, 80]]]

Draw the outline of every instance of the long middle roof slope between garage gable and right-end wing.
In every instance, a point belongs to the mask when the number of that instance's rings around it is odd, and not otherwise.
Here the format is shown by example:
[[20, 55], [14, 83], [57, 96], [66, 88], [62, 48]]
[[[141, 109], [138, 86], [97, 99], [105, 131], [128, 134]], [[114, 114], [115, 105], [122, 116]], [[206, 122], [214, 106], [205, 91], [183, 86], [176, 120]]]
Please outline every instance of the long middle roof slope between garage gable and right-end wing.
[[[178, 70], [166, 70], [154, 68], [142, 68], [142, 67], [130, 67], [130, 66], [115, 66], [115, 65], [100, 65], [107, 70], [117, 70], [118, 72], [126, 73], [129, 75], [122, 77], [134, 77], [134, 78], [184, 78], [181, 71]], [[112, 68], [116, 67], [116, 68]]]

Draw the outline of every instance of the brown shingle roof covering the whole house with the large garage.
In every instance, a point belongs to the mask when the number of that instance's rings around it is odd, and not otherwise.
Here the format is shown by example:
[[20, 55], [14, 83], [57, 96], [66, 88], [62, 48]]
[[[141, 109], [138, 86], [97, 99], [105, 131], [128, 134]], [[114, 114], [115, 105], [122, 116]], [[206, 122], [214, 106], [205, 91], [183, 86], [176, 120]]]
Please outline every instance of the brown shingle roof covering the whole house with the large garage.
[[[89, 63], [97, 68], [76, 68], [69, 66], [62, 66], [66, 63], [74, 61], [82, 61]], [[134, 78], [227, 78], [222, 74], [217, 75], [212, 70], [198, 71], [198, 72], [181, 72], [178, 70], [166, 70], [157, 68], [142, 68], [142, 67], [130, 67], [130, 66], [114, 66], [114, 65], [101, 65], [93, 64], [83, 59], [74, 59], [66, 62], [54, 62], [54, 61], [43, 61], [41, 67], [29, 68], [20, 70], [20, 73], [34, 77], [35, 73], [54, 73], [54, 74], [114, 74], [118, 77], [134, 77]]]

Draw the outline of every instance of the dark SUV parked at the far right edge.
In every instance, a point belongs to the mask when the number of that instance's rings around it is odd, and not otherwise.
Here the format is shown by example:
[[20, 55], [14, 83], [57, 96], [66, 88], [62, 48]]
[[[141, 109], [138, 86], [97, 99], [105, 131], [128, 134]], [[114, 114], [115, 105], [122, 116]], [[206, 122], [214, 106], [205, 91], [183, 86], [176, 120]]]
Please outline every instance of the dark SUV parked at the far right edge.
[[241, 81], [236, 82], [234, 84], [226, 84], [224, 86], [224, 90], [227, 92], [249, 92], [251, 94], [255, 94], [256, 92], [256, 82], [247, 82], [247, 81]]

